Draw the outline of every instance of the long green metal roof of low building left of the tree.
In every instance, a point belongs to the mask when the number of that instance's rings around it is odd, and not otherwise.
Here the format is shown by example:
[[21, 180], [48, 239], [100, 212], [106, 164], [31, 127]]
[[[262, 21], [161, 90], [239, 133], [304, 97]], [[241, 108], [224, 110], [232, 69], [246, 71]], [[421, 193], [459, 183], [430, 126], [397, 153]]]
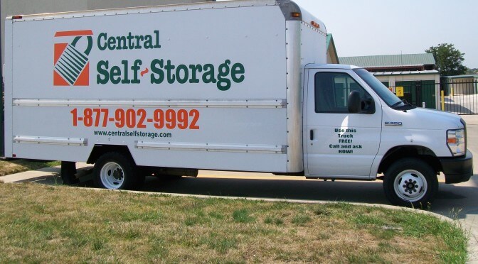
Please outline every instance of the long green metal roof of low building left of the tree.
[[339, 57], [339, 62], [359, 67], [402, 67], [435, 65], [432, 53]]

